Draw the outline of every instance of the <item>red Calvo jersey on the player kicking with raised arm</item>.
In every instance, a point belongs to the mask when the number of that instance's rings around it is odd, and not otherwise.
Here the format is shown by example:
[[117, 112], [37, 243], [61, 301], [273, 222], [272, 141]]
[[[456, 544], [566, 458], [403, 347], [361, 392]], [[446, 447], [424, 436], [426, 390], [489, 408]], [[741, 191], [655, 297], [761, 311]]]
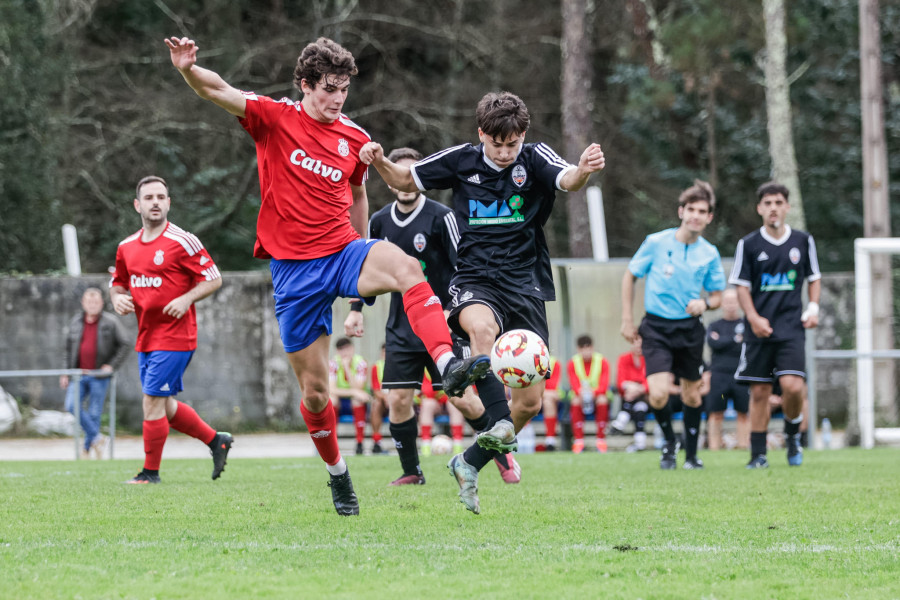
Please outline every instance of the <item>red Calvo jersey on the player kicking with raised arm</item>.
[[244, 96], [240, 123], [256, 142], [262, 196], [253, 256], [307, 260], [343, 250], [360, 237], [348, 184], [365, 183], [359, 151], [369, 134], [344, 115], [322, 123], [300, 102]]

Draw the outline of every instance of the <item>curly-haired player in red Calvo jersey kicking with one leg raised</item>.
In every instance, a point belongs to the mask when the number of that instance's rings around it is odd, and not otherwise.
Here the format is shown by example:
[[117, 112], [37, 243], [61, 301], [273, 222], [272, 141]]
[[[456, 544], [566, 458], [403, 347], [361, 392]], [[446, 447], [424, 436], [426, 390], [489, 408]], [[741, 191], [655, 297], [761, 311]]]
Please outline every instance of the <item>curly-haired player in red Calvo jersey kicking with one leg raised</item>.
[[165, 40], [172, 64], [201, 98], [238, 117], [256, 142], [262, 203], [254, 256], [271, 259], [275, 314], [288, 359], [303, 394], [300, 412], [331, 475], [338, 514], [359, 514], [347, 465], [337, 443], [328, 399], [331, 306], [337, 297], [403, 294], [416, 335], [455, 395], [487, 373], [485, 355], [453, 355], [441, 303], [419, 262], [394, 244], [363, 240], [368, 222], [366, 165], [359, 160], [368, 134], [341, 114], [353, 55], [327, 38], [308, 44], [297, 59], [300, 102], [241, 92], [197, 66], [188, 38]]

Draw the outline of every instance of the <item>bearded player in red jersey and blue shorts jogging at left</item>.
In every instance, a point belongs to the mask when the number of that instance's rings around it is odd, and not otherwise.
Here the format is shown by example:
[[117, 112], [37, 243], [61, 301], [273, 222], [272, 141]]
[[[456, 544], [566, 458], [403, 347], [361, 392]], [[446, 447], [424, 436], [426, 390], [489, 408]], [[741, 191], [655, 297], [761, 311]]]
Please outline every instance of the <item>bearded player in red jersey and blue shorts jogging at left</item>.
[[143, 227], [119, 243], [109, 282], [113, 308], [138, 320], [138, 364], [144, 409], [144, 468], [127, 483], [159, 483], [159, 463], [169, 428], [195, 437], [213, 456], [213, 479], [225, 470], [230, 433], [207, 425], [175, 395], [197, 348], [194, 303], [222, 287], [222, 276], [193, 234], [168, 220], [171, 199], [161, 177], [137, 184], [134, 209]]

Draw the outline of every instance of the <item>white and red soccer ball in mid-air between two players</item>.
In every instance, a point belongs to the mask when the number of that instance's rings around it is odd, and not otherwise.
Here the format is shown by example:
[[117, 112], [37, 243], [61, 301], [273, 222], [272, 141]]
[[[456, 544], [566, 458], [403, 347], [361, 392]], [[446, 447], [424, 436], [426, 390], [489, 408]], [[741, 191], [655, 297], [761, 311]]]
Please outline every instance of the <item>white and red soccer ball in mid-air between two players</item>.
[[546, 377], [549, 370], [550, 351], [535, 332], [513, 329], [494, 342], [491, 349], [491, 371], [503, 385], [511, 388], [528, 387]]

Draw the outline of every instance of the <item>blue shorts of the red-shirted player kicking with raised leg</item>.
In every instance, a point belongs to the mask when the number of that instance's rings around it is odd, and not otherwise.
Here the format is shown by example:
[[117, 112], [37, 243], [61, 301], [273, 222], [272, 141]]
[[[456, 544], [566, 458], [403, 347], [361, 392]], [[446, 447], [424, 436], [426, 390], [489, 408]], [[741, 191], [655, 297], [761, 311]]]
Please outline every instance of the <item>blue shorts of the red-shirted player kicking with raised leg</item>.
[[[269, 262], [285, 352], [303, 350], [323, 333], [331, 335], [331, 305], [338, 297], [359, 298], [359, 272], [377, 241], [354, 240], [322, 258]], [[364, 300], [375, 302], [374, 298]]]

